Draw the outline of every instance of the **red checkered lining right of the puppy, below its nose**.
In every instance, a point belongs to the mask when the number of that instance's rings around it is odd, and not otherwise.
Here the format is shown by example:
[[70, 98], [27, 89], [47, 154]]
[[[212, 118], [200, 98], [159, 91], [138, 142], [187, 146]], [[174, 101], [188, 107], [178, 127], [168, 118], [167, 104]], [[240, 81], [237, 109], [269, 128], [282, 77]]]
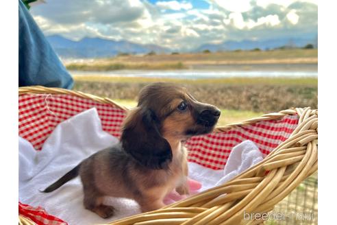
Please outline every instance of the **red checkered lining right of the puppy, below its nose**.
[[192, 137], [186, 142], [188, 161], [211, 169], [223, 169], [232, 148], [245, 140], [253, 141], [266, 156], [288, 139], [297, 123], [297, 115], [287, 115], [279, 120], [259, 121], [226, 132]]

